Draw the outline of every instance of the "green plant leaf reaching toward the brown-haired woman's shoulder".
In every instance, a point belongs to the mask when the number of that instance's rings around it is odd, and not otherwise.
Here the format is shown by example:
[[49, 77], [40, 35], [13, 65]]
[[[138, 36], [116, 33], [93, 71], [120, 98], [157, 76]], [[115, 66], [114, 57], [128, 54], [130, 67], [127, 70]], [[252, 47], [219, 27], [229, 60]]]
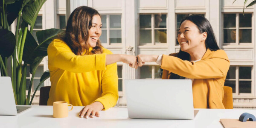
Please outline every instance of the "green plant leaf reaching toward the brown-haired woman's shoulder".
[[64, 32], [64, 30], [46, 29], [36, 32], [39, 45], [35, 48], [35, 56], [47, 56], [47, 48], [49, 44], [52, 42], [52, 39], [56, 38], [61, 32]]

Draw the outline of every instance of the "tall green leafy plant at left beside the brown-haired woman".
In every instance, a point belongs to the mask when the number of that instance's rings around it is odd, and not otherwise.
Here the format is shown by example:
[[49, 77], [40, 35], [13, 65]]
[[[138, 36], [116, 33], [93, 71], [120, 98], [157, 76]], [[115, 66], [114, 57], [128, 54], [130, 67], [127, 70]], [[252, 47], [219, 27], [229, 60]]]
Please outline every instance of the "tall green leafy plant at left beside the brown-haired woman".
[[[12, 67], [12, 87], [17, 105], [31, 105], [38, 87], [49, 78], [49, 70], [41, 76], [32, 99], [30, 99], [35, 71], [47, 56], [47, 47], [62, 29], [46, 29], [36, 32], [38, 43], [32, 36], [38, 12], [46, 0], [0, 0], [0, 73], [8, 76], [7, 67]], [[22, 15], [22, 23], [20, 18]], [[9, 25], [17, 18], [15, 35], [9, 30]], [[20, 25], [20, 26], [19, 26]], [[30, 26], [30, 29], [29, 29]], [[20, 29], [19, 29], [20, 28]], [[11, 58], [8, 64], [7, 58]], [[22, 66], [22, 61], [24, 62]], [[28, 96], [26, 97], [26, 69], [32, 78], [29, 83]]]

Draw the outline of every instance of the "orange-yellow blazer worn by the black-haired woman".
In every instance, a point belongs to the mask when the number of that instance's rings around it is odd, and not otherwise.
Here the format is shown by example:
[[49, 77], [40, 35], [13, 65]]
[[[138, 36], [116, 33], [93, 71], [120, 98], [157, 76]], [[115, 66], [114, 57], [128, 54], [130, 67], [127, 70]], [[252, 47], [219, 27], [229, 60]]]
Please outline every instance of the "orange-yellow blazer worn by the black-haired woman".
[[224, 50], [207, 49], [201, 61], [196, 63], [177, 58], [177, 53], [163, 55], [162, 79], [169, 79], [170, 73], [194, 79], [192, 83], [194, 108], [225, 109], [222, 103], [224, 82], [230, 61]]

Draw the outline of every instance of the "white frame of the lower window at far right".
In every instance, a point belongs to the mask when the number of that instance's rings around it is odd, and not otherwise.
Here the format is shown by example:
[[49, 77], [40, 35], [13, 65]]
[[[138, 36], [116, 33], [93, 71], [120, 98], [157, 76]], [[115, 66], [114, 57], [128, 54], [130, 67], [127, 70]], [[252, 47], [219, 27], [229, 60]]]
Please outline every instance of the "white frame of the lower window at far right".
[[[253, 65], [230, 65], [230, 67], [236, 67], [236, 79], [225, 79], [225, 81], [236, 81], [236, 93], [233, 96], [253, 96], [254, 95], [254, 70]], [[251, 79], [239, 79], [239, 67], [251, 67]], [[251, 81], [251, 93], [239, 93], [239, 81]], [[225, 85], [224, 85], [225, 86]]]

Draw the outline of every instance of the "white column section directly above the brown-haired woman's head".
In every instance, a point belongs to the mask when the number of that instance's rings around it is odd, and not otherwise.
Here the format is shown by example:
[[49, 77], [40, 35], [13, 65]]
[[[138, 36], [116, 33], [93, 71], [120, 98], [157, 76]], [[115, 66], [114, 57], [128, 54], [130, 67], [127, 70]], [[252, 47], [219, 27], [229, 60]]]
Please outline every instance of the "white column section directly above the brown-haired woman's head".
[[66, 20], [79, 6], [88, 6], [88, 0], [66, 0]]

